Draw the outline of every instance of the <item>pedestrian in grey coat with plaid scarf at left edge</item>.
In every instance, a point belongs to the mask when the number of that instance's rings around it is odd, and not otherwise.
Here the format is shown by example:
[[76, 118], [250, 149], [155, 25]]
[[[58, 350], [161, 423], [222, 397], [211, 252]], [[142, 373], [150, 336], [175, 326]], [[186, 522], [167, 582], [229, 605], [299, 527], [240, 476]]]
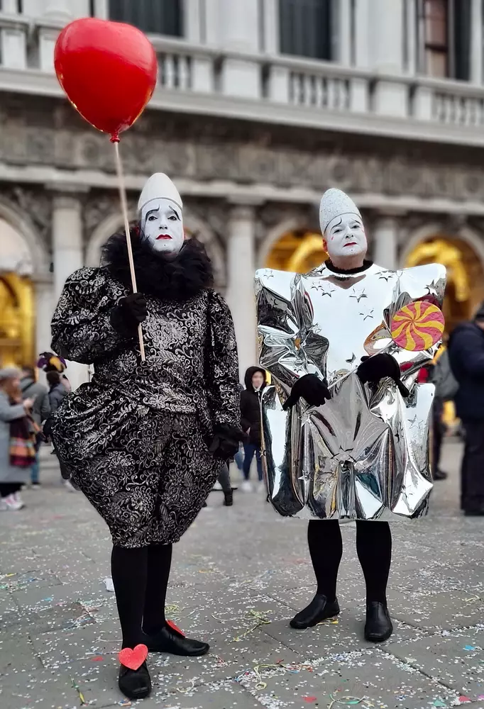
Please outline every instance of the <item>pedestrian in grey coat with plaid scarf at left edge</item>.
[[22, 401], [18, 369], [0, 369], [0, 511], [23, 508], [21, 488], [31, 476], [35, 450], [28, 414], [33, 398]]

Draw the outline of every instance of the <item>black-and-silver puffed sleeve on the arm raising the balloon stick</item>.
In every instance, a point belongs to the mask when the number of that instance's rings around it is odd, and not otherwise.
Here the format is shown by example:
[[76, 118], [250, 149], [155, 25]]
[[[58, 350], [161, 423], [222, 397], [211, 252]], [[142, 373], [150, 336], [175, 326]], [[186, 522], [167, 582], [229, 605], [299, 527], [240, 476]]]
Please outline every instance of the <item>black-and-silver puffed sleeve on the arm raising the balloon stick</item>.
[[111, 309], [123, 296], [109, 282], [104, 269], [82, 268], [65, 281], [52, 320], [52, 347], [72, 362], [91, 364], [128, 345], [111, 325]]

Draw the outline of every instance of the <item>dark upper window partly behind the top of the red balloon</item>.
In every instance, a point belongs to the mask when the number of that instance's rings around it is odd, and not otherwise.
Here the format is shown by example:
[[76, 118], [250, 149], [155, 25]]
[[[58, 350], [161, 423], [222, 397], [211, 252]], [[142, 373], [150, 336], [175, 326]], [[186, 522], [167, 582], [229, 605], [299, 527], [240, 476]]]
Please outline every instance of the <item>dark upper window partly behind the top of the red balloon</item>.
[[183, 35], [182, 0], [109, 0], [109, 19], [148, 34]]

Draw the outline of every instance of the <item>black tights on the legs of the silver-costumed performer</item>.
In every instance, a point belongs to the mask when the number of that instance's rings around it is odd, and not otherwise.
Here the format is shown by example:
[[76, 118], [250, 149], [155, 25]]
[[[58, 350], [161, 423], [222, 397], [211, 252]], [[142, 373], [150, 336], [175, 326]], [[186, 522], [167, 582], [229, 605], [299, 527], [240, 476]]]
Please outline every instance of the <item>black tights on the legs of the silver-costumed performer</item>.
[[[336, 598], [336, 580], [343, 555], [338, 520], [311, 520], [307, 528], [309, 553], [318, 593], [328, 601]], [[366, 584], [366, 600], [387, 602], [386, 591], [392, 561], [392, 535], [387, 522], [356, 522], [356, 551]]]

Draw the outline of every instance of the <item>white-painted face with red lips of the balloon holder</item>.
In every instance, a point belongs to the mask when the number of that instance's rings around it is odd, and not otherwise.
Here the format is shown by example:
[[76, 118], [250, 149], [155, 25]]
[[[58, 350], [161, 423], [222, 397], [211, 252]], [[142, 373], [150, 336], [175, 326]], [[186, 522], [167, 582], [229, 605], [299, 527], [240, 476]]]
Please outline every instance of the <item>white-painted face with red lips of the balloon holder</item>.
[[155, 253], [177, 255], [183, 246], [182, 211], [171, 199], [152, 199], [141, 213], [141, 230]]

